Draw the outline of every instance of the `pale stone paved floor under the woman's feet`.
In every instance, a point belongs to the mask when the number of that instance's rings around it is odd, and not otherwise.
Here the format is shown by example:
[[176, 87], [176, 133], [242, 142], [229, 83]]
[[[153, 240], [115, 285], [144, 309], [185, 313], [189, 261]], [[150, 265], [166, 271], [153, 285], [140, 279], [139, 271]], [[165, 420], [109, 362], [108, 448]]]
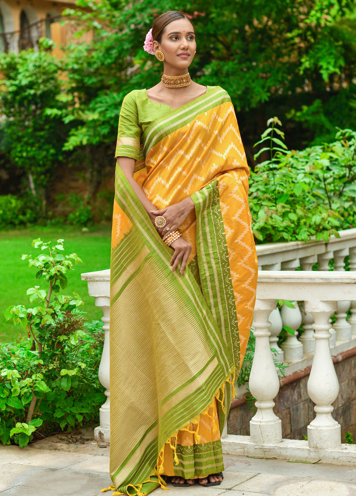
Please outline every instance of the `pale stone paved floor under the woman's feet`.
[[[75, 448], [78, 448], [75, 451]], [[356, 496], [356, 469], [226, 455], [224, 481], [204, 488], [156, 489], [155, 496]], [[0, 445], [1, 496], [96, 496], [111, 482], [109, 448], [71, 450]], [[189, 495], [188, 495], [189, 493]], [[111, 496], [111, 492], [104, 493]]]

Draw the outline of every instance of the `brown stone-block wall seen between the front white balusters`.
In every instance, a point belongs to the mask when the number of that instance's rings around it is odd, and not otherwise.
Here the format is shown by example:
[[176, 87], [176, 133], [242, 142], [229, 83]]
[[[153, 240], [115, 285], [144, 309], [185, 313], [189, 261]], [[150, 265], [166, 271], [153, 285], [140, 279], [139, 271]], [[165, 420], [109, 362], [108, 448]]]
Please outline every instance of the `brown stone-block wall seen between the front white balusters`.
[[[340, 393], [334, 402], [332, 415], [341, 425], [342, 435], [349, 430], [356, 440], [356, 355], [335, 363], [335, 370]], [[315, 417], [314, 405], [307, 391], [308, 379], [309, 376], [303, 377], [281, 387], [275, 399], [274, 412], [282, 420], [282, 435], [285, 439], [305, 439], [307, 426]], [[249, 436], [249, 422], [253, 415], [246, 403], [231, 409], [227, 432]]]

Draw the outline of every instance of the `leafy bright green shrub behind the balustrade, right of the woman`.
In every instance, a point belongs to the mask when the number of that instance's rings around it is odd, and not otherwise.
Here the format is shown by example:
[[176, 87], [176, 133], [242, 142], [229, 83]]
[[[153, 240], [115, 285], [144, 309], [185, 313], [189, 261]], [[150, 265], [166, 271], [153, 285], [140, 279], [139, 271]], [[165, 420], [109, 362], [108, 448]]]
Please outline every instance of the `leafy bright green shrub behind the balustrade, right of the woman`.
[[[354, 224], [356, 132], [339, 130], [333, 143], [289, 151], [284, 134], [269, 119], [256, 143], [270, 158], [251, 173], [253, 232], [260, 242], [328, 241]], [[278, 138], [276, 137], [278, 135]]]

